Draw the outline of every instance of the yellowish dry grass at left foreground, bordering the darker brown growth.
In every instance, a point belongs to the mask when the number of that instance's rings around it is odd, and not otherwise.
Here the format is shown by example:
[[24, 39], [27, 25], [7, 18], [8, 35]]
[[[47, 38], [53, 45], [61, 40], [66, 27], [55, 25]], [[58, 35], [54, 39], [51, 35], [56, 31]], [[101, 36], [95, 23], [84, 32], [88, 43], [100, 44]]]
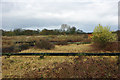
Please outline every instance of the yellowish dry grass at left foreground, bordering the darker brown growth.
[[[49, 66], [54, 62], [62, 63], [64, 61], [71, 62], [71, 57], [57, 57], [57, 56], [46, 56], [44, 59], [40, 59], [39, 56], [11, 56], [6, 59], [6, 56], [2, 57], [2, 69], [3, 77], [7, 76], [23, 76], [26, 72], [34, 69], [42, 69], [45, 66]], [[50, 66], [49, 66], [50, 67]]]

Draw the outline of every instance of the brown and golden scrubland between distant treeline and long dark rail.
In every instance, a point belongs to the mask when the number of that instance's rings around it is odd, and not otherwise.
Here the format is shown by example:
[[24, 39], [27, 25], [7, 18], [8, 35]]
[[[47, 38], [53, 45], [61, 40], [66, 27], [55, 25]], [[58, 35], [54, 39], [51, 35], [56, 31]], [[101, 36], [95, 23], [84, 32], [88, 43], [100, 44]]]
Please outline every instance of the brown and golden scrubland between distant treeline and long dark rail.
[[[39, 40], [46, 40], [40, 42]], [[36, 45], [35, 46], [35, 43]], [[16, 43], [23, 42], [23, 43]], [[31, 43], [26, 43], [31, 42]], [[114, 46], [114, 47], [113, 47]], [[37, 47], [37, 48], [36, 48]], [[3, 36], [2, 50], [3, 53], [75, 53], [75, 52], [119, 52], [120, 46], [108, 44], [106, 50], [98, 49], [93, 45], [91, 38], [87, 34], [81, 35], [40, 35], [40, 36]]]

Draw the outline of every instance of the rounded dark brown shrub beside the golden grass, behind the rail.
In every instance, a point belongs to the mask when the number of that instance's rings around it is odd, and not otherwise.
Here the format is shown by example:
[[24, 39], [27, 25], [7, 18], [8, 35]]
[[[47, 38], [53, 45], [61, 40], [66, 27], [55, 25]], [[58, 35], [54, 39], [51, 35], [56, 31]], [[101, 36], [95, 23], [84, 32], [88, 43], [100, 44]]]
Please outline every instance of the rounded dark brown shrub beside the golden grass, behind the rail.
[[40, 49], [48, 49], [48, 50], [55, 48], [55, 46], [52, 43], [50, 43], [47, 40], [43, 40], [43, 39], [37, 40], [35, 42], [35, 47], [40, 48]]

